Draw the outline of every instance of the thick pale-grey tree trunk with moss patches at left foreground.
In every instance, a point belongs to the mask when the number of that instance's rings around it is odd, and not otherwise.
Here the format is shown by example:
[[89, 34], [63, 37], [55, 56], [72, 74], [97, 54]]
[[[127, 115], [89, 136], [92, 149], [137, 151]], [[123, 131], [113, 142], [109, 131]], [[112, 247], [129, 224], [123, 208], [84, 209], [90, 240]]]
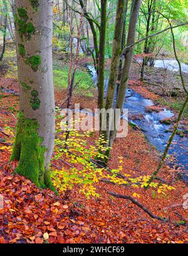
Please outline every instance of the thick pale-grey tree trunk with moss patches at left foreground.
[[19, 117], [11, 160], [16, 173], [53, 188], [48, 172], [55, 139], [52, 73], [53, 1], [15, 1], [20, 83]]

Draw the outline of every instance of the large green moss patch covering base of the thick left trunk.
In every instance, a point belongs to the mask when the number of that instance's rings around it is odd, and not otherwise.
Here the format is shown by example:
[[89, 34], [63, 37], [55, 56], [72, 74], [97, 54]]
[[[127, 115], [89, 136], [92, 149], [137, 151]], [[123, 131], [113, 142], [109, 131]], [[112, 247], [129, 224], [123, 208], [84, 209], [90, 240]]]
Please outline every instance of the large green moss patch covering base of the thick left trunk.
[[18, 160], [15, 172], [30, 179], [40, 188], [53, 188], [50, 173], [44, 169], [43, 138], [38, 136], [39, 124], [37, 120], [26, 119], [19, 114], [16, 139], [14, 141], [11, 161]]

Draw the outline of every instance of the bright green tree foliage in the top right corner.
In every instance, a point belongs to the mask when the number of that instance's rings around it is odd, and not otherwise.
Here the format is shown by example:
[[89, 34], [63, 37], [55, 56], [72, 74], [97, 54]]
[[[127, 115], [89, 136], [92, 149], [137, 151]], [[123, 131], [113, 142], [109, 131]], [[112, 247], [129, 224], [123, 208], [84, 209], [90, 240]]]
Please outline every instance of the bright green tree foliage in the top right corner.
[[[162, 29], [169, 27], [169, 23], [165, 17], [169, 18], [172, 26], [185, 23], [187, 21], [187, 0], [179, 1], [179, 0], [163, 0], [163, 1], [142, 1], [142, 7], [140, 9], [139, 22], [137, 25], [137, 31], [139, 38], [145, 38], [146, 29], [147, 29], [147, 21], [149, 20], [149, 11], [148, 6], [152, 6], [154, 8], [152, 10], [152, 16], [150, 18], [149, 24], [149, 35], [155, 34]], [[159, 12], [159, 13], [158, 13]], [[182, 46], [182, 39], [179, 35], [180, 31], [187, 30], [187, 26], [182, 26], [180, 28], [174, 29], [175, 34], [175, 43], [177, 49], [186, 51], [185, 47]], [[135, 53], [143, 53], [144, 42], [137, 45], [137, 49], [135, 49]], [[150, 38], [148, 41], [149, 44], [149, 53], [159, 53], [160, 49], [165, 49], [174, 55], [172, 51], [172, 35], [170, 29], [165, 33], [154, 36]]]

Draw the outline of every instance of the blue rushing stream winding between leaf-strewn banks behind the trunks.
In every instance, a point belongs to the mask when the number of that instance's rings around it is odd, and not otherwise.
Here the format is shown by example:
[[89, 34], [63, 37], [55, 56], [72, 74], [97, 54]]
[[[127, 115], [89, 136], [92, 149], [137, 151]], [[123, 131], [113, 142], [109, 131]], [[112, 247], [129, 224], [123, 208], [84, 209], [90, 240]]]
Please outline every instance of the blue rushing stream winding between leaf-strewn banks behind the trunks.
[[[91, 77], [95, 85], [97, 84], [97, 73], [95, 68], [87, 66], [91, 73]], [[188, 68], [188, 66], [187, 66]], [[105, 82], [105, 88], [107, 88], [108, 80]], [[115, 95], [115, 100], [117, 95]], [[162, 109], [160, 112], [148, 112], [147, 107], [154, 105], [154, 102], [149, 99], [145, 99], [139, 93], [128, 88], [125, 102], [123, 104], [124, 109], [128, 109], [128, 120], [142, 129], [147, 140], [159, 151], [164, 152], [165, 146], [169, 141], [171, 135], [170, 128], [172, 125], [162, 124], [160, 121], [173, 117], [172, 111]], [[179, 125], [179, 130], [181, 129]], [[188, 183], [188, 140], [187, 135], [180, 137], [175, 135], [174, 141], [169, 150], [169, 154], [174, 156], [174, 161], [170, 166], [174, 166], [175, 169], [182, 169], [182, 178]]]

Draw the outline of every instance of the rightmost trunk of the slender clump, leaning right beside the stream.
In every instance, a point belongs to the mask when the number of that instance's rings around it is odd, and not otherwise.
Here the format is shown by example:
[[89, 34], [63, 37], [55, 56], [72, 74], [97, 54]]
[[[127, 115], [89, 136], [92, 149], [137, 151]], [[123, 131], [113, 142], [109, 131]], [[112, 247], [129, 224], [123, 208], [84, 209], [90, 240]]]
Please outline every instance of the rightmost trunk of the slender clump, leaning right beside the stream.
[[[127, 46], [135, 43], [136, 26], [137, 26], [137, 20], [138, 20], [138, 15], [140, 11], [141, 1], [142, 0], [133, 0], [133, 3], [132, 3], [132, 12], [130, 14], [130, 21], [129, 21], [129, 28], [128, 28]], [[129, 77], [130, 67], [132, 63], [132, 57], [133, 57], [133, 47], [130, 47], [125, 53], [125, 62], [122, 70], [122, 78], [120, 80], [120, 88], [118, 90], [117, 103], [115, 106], [116, 109], [120, 109], [121, 111], [123, 109], [123, 102], [125, 100], [125, 93], [128, 85], [128, 77]], [[112, 147], [113, 145], [113, 141], [115, 139], [116, 133], [117, 133], [116, 129], [110, 132], [110, 140], [109, 140], [110, 147]]]

